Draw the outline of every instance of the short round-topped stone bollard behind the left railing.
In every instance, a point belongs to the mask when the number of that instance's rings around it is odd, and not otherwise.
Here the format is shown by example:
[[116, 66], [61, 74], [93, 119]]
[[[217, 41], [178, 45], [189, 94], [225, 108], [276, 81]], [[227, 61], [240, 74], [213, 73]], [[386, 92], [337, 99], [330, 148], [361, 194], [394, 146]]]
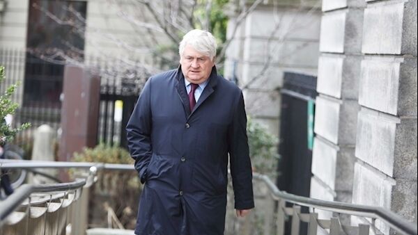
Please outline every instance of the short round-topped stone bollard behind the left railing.
[[[36, 129], [35, 137], [33, 138], [33, 150], [32, 160], [33, 161], [55, 161], [54, 159], [54, 140], [55, 131], [52, 127], [47, 124], [42, 124]], [[38, 172], [42, 172], [53, 177], [56, 177], [56, 170], [52, 169], [34, 169]], [[29, 177], [30, 184], [45, 184], [45, 183], [56, 183], [52, 179], [43, 177], [41, 175], [35, 175], [35, 177]]]

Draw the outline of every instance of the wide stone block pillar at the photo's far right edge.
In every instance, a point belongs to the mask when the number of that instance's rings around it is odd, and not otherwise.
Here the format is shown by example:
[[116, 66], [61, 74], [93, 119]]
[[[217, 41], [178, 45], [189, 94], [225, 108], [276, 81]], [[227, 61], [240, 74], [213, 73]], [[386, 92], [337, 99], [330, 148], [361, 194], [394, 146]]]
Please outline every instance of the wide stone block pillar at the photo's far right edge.
[[417, 222], [417, 1], [366, 2], [353, 203]]

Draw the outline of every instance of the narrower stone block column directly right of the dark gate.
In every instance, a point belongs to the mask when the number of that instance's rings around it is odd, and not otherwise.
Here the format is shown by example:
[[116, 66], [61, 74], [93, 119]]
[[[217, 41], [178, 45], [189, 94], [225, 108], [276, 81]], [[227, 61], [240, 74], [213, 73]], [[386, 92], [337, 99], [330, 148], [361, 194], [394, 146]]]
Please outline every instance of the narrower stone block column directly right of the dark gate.
[[365, 5], [323, 0], [311, 179], [321, 200], [351, 202]]

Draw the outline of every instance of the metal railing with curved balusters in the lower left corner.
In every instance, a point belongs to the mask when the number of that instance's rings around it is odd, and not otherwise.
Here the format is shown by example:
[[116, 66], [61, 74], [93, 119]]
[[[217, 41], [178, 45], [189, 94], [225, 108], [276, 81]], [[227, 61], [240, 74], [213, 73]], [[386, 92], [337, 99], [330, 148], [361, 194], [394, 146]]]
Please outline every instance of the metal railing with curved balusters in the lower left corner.
[[[22, 165], [23, 164], [23, 165]], [[1, 160], [0, 170], [51, 168], [53, 162]], [[54, 168], [63, 168], [59, 163]], [[68, 164], [66, 164], [68, 165]], [[84, 234], [88, 188], [95, 181], [97, 168], [75, 181], [59, 184], [23, 184], [12, 195], [0, 200], [0, 234]], [[85, 173], [85, 172], [84, 172]], [[82, 232], [82, 233], [80, 233]]]

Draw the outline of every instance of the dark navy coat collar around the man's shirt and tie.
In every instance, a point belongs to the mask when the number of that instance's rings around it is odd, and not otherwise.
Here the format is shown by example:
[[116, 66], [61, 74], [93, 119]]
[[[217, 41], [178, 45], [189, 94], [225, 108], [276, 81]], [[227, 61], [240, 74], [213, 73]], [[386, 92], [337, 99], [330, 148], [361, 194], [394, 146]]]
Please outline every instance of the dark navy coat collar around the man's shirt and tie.
[[181, 71], [181, 65], [178, 66], [176, 73], [177, 73], [176, 79], [178, 81], [176, 83], [176, 89], [177, 89], [178, 95], [180, 96], [181, 102], [183, 103], [183, 108], [185, 109], [187, 120], [189, 120], [189, 117], [197, 110], [197, 108], [199, 108], [199, 106], [201, 106], [201, 104], [206, 99], [208, 99], [208, 97], [215, 91], [214, 89], [217, 86], [217, 82], [218, 82], [216, 66], [214, 65], [212, 67], [212, 72], [210, 72], [210, 75], [209, 75], [209, 83], [206, 86], [206, 88], [203, 90], [192, 112], [190, 112], [189, 96], [187, 95], [187, 91], [185, 87], [185, 76], [183, 75], [183, 72]]

